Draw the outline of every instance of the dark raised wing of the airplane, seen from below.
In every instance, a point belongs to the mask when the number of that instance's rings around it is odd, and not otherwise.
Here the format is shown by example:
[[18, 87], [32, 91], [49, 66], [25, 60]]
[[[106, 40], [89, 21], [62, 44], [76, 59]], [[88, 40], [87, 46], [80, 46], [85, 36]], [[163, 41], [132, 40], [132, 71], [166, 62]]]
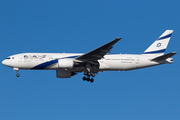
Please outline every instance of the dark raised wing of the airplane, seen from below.
[[108, 52], [110, 52], [110, 50], [113, 48], [113, 45], [115, 43], [117, 43], [120, 39], [121, 38], [116, 38], [115, 40], [113, 40], [99, 48], [96, 48], [88, 53], [85, 53], [75, 59], [76, 60], [92, 60], [92, 61], [99, 60], [99, 59], [103, 58], [104, 55], [106, 55]]

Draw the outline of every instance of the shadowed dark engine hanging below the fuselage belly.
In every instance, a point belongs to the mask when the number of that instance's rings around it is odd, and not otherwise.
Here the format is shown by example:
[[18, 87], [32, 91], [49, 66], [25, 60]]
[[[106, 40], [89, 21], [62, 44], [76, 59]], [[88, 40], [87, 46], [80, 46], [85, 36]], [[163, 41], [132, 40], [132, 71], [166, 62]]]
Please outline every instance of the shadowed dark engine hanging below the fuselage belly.
[[74, 76], [76, 74], [77, 73], [75, 72], [56, 70], [57, 78], [70, 78], [71, 76]]

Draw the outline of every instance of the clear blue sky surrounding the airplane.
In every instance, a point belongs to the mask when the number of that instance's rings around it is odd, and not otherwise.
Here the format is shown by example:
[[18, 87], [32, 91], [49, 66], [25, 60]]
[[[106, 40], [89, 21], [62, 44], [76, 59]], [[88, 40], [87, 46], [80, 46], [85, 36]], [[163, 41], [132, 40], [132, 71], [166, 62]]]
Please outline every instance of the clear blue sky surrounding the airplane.
[[[165, 30], [166, 53], [179, 52], [178, 0], [1, 0], [2, 61], [23, 52], [85, 53], [122, 37], [111, 53], [141, 54]], [[1, 120], [179, 120], [179, 54], [173, 64], [105, 72], [93, 84], [80, 73], [15, 71], [0, 65]]]

